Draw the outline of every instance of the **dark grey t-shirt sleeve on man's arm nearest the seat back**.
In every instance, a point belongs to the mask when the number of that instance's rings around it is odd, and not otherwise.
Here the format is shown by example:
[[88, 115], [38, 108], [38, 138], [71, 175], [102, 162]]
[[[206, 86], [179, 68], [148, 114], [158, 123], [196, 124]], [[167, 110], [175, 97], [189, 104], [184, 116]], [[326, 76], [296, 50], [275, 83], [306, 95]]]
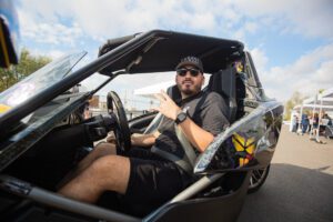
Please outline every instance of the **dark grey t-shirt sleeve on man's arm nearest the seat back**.
[[230, 125], [226, 114], [228, 107], [223, 98], [218, 93], [210, 93], [200, 114], [202, 129], [211, 132], [213, 135], [219, 134]]

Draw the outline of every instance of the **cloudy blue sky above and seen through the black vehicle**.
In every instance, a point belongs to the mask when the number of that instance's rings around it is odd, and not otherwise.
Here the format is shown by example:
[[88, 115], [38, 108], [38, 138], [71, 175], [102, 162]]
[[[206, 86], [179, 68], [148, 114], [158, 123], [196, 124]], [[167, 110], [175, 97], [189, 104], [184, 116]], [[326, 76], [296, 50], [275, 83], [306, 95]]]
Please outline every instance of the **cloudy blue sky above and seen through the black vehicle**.
[[[84, 63], [108, 39], [164, 29], [242, 41], [266, 94], [282, 102], [295, 91], [333, 88], [332, 0], [17, 0], [17, 8], [20, 46], [37, 56], [85, 50]], [[174, 74], [130, 78], [113, 87], [138, 89]]]

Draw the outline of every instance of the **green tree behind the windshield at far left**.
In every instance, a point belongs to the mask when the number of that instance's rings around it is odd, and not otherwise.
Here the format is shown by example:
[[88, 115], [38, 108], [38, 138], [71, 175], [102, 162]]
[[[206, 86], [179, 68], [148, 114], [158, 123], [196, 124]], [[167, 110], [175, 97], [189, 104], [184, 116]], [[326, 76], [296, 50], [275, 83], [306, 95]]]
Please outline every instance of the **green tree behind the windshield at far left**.
[[33, 73], [50, 61], [51, 59], [48, 57], [34, 57], [27, 49], [22, 49], [18, 65], [11, 65], [9, 69], [0, 69], [0, 92]]

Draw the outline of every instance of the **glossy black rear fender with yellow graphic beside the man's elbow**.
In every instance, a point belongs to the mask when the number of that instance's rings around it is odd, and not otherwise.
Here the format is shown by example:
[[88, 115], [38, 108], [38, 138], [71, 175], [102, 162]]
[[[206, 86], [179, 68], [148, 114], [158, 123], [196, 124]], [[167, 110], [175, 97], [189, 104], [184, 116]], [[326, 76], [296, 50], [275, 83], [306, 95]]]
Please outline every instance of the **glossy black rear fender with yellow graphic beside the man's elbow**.
[[[282, 110], [282, 105], [276, 102], [262, 103], [249, 115], [233, 123], [201, 155], [194, 172], [209, 173], [268, 165], [275, 151], [282, 124], [281, 115], [276, 112], [281, 113]], [[242, 144], [236, 137], [243, 138], [248, 144]], [[241, 143], [244, 149], [236, 150], [235, 143]], [[246, 147], [251, 151], [246, 151]]]

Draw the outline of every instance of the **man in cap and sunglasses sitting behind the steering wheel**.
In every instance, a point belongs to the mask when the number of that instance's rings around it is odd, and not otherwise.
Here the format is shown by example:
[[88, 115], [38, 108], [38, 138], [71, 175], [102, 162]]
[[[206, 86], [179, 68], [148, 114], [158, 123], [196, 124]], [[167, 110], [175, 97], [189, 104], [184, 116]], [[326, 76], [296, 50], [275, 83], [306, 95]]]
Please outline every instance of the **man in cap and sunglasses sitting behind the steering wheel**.
[[[104, 191], [115, 191], [129, 203], [155, 208], [192, 183], [191, 172], [161, 153], [183, 159], [185, 151], [176, 137], [175, 125], [198, 152], [203, 152], [214, 135], [229, 125], [228, 108], [220, 94], [201, 91], [203, 65], [196, 57], [181, 60], [175, 82], [182, 97], [180, 104], [165, 92], [157, 95], [160, 100], [157, 110], [164, 115], [158, 131], [133, 134], [134, 148], [125, 154], [117, 155], [114, 143], [97, 147], [79, 163], [77, 172], [59, 193], [93, 203]], [[143, 149], [152, 145], [153, 149]]]

